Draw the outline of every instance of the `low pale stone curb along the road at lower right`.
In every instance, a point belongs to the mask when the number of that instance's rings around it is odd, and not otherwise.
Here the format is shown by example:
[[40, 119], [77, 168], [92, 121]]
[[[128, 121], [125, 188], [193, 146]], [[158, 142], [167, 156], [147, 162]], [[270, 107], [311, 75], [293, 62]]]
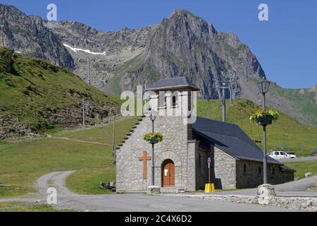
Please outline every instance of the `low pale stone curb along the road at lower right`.
[[179, 198], [201, 198], [206, 200], [278, 206], [292, 210], [317, 212], [317, 198], [313, 197], [279, 197], [279, 196], [240, 196], [240, 195], [189, 195], [189, 194], [156, 194]]

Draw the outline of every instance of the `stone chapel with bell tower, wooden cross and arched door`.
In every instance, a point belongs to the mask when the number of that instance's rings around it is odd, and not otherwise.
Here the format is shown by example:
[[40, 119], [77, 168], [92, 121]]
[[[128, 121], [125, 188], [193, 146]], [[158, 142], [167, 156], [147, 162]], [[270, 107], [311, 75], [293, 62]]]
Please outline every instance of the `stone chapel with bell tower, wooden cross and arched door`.
[[[198, 90], [185, 77], [161, 79], [147, 90], [151, 91], [151, 107], [156, 106], [159, 114], [154, 130], [163, 134], [163, 141], [154, 146], [155, 186], [162, 191], [204, 189], [209, 181], [209, 157], [216, 189], [263, 184], [263, 152], [239, 126], [202, 117], [186, 124], [184, 115], [177, 114], [182, 105], [189, 111], [196, 107], [190, 100]], [[176, 114], [160, 114], [168, 108]], [[116, 149], [116, 192], [144, 192], [151, 186], [152, 146], [143, 140], [151, 130], [152, 121], [144, 115]], [[270, 184], [292, 180], [293, 169], [268, 157]]]

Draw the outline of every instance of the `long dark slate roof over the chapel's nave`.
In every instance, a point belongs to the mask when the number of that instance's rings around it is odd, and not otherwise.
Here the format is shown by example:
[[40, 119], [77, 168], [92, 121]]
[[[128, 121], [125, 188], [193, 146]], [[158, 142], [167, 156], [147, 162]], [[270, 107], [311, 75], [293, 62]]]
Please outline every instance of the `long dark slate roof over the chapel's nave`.
[[[237, 160], [263, 162], [262, 150], [235, 124], [197, 117], [192, 129], [196, 138], [213, 143]], [[281, 165], [278, 160], [269, 156], [268, 162]]]

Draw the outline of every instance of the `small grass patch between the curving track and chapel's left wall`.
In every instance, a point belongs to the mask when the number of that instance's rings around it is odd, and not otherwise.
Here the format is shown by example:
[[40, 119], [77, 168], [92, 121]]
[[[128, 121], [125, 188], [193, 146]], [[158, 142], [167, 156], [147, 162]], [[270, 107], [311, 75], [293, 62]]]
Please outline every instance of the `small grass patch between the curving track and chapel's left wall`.
[[116, 180], [116, 167], [103, 169], [83, 169], [66, 179], [66, 186], [78, 194], [114, 194], [108, 189], [99, 188], [100, 182]]

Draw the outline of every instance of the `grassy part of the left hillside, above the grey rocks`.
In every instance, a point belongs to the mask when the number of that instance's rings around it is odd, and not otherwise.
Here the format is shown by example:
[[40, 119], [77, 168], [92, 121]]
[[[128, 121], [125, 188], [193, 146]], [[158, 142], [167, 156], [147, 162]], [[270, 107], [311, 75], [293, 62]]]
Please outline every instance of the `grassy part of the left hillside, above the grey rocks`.
[[[13, 54], [2, 47], [0, 56], [0, 114], [13, 114], [23, 124], [37, 128], [37, 124], [46, 120], [47, 112], [80, 106], [81, 97], [105, 108], [118, 105], [117, 97], [88, 87], [66, 69]], [[11, 69], [6, 69], [10, 59]]]

